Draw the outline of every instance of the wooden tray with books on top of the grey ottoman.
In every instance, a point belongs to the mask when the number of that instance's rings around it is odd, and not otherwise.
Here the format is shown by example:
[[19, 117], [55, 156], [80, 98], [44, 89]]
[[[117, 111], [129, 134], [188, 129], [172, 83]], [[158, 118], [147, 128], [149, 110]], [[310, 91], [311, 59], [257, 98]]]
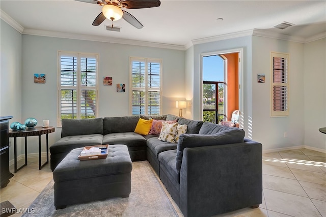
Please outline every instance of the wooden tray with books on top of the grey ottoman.
[[108, 145], [85, 146], [79, 154], [79, 160], [94, 160], [107, 157]]

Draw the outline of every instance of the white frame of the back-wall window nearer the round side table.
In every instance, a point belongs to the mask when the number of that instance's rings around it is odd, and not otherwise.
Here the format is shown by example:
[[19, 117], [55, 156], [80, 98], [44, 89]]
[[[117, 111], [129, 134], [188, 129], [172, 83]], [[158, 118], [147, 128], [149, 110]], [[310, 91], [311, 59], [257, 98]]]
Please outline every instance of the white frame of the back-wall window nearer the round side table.
[[[77, 59], [77, 64], [76, 64], [76, 86], [62, 86], [61, 85], [61, 57], [74, 57]], [[95, 86], [82, 86], [81, 83], [81, 76], [82, 76], [82, 63], [81, 59], [82, 58], [92, 58], [96, 60], [96, 66], [95, 66]], [[58, 56], [57, 56], [57, 62], [58, 62], [58, 71], [57, 71], [57, 127], [62, 127], [61, 124], [61, 90], [62, 89], [68, 89], [68, 90], [74, 90], [76, 91], [76, 118], [75, 119], [80, 119], [82, 114], [81, 112], [81, 101], [82, 101], [82, 91], [83, 90], [94, 90], [95, 91], [95, 118], [98, 117], [98, 111], [99, 111], [99, 71], [98, 71], [98, 61], [99, 60], [99, 55], [98, 53], [86, 53], [86, 52], [73, 52], [73, 51], [58, 51]], [[74, 118], [72, 118], [74, 119]]]

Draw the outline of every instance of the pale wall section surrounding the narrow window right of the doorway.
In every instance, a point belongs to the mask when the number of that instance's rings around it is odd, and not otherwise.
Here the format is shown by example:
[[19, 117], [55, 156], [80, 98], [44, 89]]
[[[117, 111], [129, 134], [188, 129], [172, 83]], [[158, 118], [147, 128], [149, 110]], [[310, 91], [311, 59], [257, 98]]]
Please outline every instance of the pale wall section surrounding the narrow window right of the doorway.
[[[253, 36], [253, 138], [263, 149], [304, 145], [304, 44]], [[289, 53], [289, 117], [270, 117], [270, 52]], [[257, 83], [257, 74], [265, 83]], [[284, 138], [284, 132], [287, 137]]]

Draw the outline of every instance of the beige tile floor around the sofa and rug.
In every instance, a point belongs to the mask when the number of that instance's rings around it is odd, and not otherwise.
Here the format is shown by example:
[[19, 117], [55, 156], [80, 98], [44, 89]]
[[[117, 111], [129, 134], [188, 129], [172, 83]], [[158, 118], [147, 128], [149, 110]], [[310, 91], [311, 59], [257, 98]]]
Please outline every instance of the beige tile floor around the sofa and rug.
[[[0, 190], [1, 202], [28, 208], [52, 179], [49, 164], [38, 170], [38, 158], [24, 167]], [[222, 216], [323, 216], [326, 217], [326, 154], [309, 149], [263, 154], [263, 202], [259, 208], [244, 208]], [[13, 172], [13, 166], [11, 166]], [[168, 194], [168, 193], [167, 193]], [[168, 195], [179, 216], [179, 208]], [[11, 216], [21, 216], [15, 214]]]

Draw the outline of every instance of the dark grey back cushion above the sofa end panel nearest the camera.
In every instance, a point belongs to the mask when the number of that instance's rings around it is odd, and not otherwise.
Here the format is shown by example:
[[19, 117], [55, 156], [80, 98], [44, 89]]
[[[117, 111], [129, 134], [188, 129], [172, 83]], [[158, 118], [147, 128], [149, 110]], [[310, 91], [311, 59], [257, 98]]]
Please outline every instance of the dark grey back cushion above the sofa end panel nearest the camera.
[[235, 127], [228, 127], [224, 131], [209, 135], [182, 134], [177, 146], [176, 169], [180, 171], [184, 148], [242, 143], [243, 138], [244, 131]]

